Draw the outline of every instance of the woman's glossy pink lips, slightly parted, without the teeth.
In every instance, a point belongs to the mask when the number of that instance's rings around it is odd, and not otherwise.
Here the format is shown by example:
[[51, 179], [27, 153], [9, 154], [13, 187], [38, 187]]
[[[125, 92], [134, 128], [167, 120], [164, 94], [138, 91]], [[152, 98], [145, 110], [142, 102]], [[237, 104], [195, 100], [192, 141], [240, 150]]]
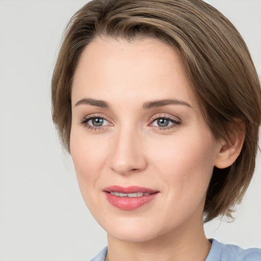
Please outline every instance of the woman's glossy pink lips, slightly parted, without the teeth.
[[[150, 202], [153, 200], [158, 194], [159, 191], [151, 190], [148, 188], [138, 187], [138, 186], [130, 186], [130, 187], [120, 187], [120, 186], [111, 186], [104, 188], [107, 200], [113, 205], [121, 210], [135, 210], [138, 207]], [[112, 195], [110, 192], [119, 192], [119, 193], [150, 193], [149, 195], [143, 195], [140, 197], [120, 197]]]

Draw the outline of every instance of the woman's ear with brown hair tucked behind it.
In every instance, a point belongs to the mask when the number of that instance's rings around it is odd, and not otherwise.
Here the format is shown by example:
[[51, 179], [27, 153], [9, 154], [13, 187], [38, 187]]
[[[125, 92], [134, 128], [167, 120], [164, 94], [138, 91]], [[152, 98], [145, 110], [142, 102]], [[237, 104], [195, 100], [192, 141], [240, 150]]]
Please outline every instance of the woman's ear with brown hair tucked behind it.
[[221, 148], [215, 166], [224, 169], [231, 166], [238, 158], [246, 136], [245, 121], [234, 119], [227, 127], [227, 139], [221, 140]]

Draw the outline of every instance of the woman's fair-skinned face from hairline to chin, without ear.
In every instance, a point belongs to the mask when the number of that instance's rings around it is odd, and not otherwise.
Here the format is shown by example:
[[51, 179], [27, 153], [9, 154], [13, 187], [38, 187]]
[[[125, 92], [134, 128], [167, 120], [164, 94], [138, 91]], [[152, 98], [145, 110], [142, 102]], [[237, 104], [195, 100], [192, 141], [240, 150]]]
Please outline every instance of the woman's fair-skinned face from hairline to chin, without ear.
[[221, 145], [177, 51], [151, 38], [97, 38], [81, 56], [71, 98], [77, 179], [110, 236], [143, 242], [202, 225]]

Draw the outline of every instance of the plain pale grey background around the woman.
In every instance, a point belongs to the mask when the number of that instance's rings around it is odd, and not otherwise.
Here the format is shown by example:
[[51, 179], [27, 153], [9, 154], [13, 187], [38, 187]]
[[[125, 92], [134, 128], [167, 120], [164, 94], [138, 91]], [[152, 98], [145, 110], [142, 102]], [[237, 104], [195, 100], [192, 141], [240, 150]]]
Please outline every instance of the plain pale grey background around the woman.
[[[51, 121], [50, 81], [65, 25], [83, 0], [0, 0], [0, 260], [89, 260], [106, 245]], [[261, 1], [209, 0], [261, 72]], [[261, 160], [233, 223], [207, 237], [261, 247]]]

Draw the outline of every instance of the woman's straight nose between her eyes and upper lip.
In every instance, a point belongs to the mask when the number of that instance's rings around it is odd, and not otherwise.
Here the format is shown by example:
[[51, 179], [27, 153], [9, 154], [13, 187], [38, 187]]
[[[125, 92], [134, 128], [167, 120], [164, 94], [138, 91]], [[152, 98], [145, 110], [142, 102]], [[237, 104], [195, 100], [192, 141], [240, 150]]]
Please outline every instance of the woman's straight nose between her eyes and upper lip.
[[128, 175], [146, 169], [147, 161], [142, 135], [133, 129], [120, 129], [112, 139], [110, 168], [118, 174]]

